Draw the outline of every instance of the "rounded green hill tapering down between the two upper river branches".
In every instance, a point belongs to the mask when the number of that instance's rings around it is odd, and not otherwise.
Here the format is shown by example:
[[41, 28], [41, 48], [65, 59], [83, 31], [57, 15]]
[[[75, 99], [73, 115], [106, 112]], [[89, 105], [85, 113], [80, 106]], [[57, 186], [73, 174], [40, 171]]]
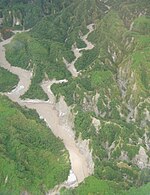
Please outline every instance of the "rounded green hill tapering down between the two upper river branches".
[[[62, 59], [62, 56], [67, 54], [67, 50], [63, 48], [62, 44], [51, 44], [50, 42], [49, 44], [50, 47], [45, 46], [44, 40], [39, 42], [37, 38], [33, 38], [27, 33], [21, 33], [13, 39], [11, 44], [6, 46], [6, 57], [13, 66], [19, 66], [34, 72], [31, 87], [23, 98], [47, 99], [46, 94], [40, 87], [42, 80], [45, 78], [45, 73], [49, 79], [64, 79], [70, 76]], [[62, 54], [61, 50], [63, 50]]]

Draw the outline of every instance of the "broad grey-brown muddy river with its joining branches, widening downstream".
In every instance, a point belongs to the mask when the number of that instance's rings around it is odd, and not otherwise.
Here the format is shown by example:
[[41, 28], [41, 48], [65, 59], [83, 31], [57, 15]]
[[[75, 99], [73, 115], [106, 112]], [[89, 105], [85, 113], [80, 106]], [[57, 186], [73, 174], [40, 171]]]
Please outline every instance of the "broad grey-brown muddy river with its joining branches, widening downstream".
[[[46, 121], [54, 135], [62, 139], [66, 149], [69, 152], [72, 169], [72, 173], [68, 177], [68, 181], [65, 182], [65, 185], [68, 187], [71, 187], [72, 185], [78, 185], [87, 176], [93, 173], [94, 165], [92, 161], [92, 155], [89, 151], [87, 141], [75, 141], [75, 135], [72, 130], [72, 122], [70, 121], [70, 108], [65, 103], [63, 97], [61, 97], [60, 101], [56, 104], [55, 96], [50, 89], [53, 83], [62, 83], [68, 81], [52, 80], [43, 82], [41, 86], [49, 97], [48, 101], [30, 99], [21, 100], [20, 96], [29, 89], [31, 84], [32, 72], [19, 67], [13, 67], [6, 60], [5, 48], [3, 46], [10, 43], [12, 38], [0, 42], [0, 66], [9, 70], [13, 74], [16, 74], [20, 81], [13, 91], [10, 93], [5, 93], [5, 95], [7, 95], [12, 101], [19, 103], [21, 106], [36, 109], [39, 116]], [[84, 151], [81, 149], [83, 146]]]

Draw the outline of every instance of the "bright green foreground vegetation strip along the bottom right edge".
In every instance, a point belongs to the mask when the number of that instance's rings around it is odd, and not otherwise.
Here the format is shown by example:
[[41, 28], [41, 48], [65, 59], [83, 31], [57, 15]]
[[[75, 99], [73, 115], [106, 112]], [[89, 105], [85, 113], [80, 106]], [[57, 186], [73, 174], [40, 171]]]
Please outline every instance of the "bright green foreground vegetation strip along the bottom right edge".
[[91, 176], [85, 179], [83, 184], [74, 190], [62, 189], [61, 195], [149, 195], [150, 184], [146, 184], [140, 188], [131, 188], [127, 191], [121, 190], [121, 185], [114, 182], [98, 180]]

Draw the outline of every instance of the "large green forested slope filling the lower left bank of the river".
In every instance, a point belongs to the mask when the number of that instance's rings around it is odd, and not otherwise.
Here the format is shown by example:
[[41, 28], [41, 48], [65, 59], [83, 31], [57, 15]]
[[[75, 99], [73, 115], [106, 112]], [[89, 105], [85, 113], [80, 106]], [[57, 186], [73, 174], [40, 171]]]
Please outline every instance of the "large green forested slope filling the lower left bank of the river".
[[69, 173], [68, 153], [34, 111], [0, 96], [0, 193], [45, 194]]

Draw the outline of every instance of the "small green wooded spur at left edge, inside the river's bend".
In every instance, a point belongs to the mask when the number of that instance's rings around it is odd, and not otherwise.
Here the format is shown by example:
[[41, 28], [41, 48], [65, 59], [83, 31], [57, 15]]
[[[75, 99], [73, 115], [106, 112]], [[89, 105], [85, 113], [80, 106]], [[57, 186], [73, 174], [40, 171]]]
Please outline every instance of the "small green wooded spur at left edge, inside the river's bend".
[[18, 81], [19, 79], [16, 75], [0, 67], [0, 92], [10, 92]]

